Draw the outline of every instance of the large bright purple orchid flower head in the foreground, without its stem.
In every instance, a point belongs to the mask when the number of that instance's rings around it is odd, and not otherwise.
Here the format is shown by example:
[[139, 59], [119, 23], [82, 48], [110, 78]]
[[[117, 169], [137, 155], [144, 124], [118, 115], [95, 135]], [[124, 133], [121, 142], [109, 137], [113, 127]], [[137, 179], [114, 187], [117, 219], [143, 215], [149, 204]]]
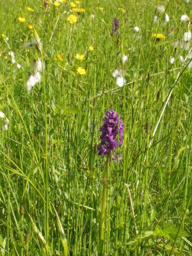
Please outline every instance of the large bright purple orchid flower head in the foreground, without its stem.
[[116, 147], [121, 147], [124, 140], [124, 122], [120, 120], [120, 115], [115, 113], [113, 109], [106, 112], [106, 116], [102, 120], [104, 123], [100, 127], [102, 132], [100, 136], [100, 145], [98, 147], [99, 156], [106, 156], [113, 152]]

